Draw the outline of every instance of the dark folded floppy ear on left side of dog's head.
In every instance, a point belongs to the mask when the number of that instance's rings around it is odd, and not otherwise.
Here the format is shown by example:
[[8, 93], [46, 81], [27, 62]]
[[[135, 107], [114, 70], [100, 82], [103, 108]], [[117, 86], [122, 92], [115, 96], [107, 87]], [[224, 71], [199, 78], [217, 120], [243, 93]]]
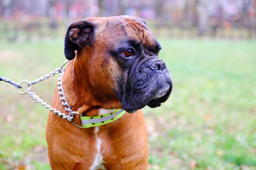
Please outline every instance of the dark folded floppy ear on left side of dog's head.
[[95, 39], [95, 26], [92, 22], [81, 20], [71, 23], [65, 34], [64, 53], [68, 60], [75, 58], [75, 50], [92, 45]]

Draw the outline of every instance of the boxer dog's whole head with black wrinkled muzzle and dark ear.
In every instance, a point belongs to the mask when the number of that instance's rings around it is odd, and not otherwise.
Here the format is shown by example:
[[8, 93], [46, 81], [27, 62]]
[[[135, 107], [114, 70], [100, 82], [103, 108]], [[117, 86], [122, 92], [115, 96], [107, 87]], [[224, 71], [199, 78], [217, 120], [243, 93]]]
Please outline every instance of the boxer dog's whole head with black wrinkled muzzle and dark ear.
[[111, 91], [129, 113], [144, 106], [160, 106], [171, 94], [171, 74], [158, 56], [161, 45], [141, 18], [76, 21], [65, 36], [68, 60], [75, 57], [75, 50], [80, 62], [90, 66], [86, 72], [90, 72], [91, 86], [99, 89], [95, 93]]

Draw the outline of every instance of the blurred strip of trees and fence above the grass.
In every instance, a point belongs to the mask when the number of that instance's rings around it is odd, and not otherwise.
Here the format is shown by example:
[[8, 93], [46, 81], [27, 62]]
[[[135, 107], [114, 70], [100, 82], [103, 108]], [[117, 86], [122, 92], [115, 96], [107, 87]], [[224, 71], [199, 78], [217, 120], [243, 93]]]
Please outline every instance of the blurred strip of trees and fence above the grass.
[[146, 19], [164, 37], [256, 37], [254, 0], [1, 0], [0, 9], [0, 35], [9, 40], [48, 38], [70, 21], [124, 14]]

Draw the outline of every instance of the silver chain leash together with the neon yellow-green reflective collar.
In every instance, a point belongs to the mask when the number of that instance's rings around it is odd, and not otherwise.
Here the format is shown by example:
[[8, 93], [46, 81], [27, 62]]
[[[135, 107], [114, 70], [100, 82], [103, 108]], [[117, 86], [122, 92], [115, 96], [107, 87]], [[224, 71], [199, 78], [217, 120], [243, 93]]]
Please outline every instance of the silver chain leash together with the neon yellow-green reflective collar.
[[[27, 80], [23, 80], [20, 83], [16, 83], [14, 81], [11, 81], [10, 79], [6, 79], [4, 77], [0, 76], [0, 81], [5, 81], [13, 86], [16, 87], [18, 94], [28, 94], [33, 100], [35, 100], [37, 103], [40, 103], [41, 106], [44, 106], [47, 108], [49, 111], [53, 111], [53, 113], [58, 115], [59, 117], [62, 117], [63, 119], [67, 119], [70, 123], [73, 123], [78, 128], [91, 128], [99, 125], [105, 125], [107, 123], [111, 123], [114, 120], [117, 120], [120, 118], [122, 115], [124, 115], [125, 111], [123, 109], [116, 109], [113, 113], [109, 113], [107, 115], [100, 115], [100, 116], [95, 116], [95, 117], [90, 117], [87, 118], [87, 116], [82, 116], [82, 114], [78, 113], [77, 111], [72, 111], [70, 105], [68, 104], [68, 101], [66, 99], [66, 96], [64, 94], [64, 89], [63, 89], [63, 74], [64, 74], [64, 66], [67, 64], [69, 60], [66, 60], [63, 65], [60, 68], [55, 69], [53, 72], [50, 72], [50, 74], [46, 74], [45, 76], [35, 79], [34, 81], [30, 82]], [[50, 77], [54, 77], [55, 74], [60, 74], [60, 77], [58, 79], [58, 94], [60, 94], [60, 100], [62, 105], [65, 108], [65, 111], [68, 112], [68, 115], [65, 113], [61, 113], [60, 111], [57, 111], [55, 108], [52, 108], [50, 105], [48, 105], [43, 99], [41, 99], [39, 96], [37, 96], [35, 93], [31, 91], [31, 88], [34, 84], [38, 84], [41, 81], [44, 81], [46, 79], [49, 79]], [[26, 86], [26, 88], [25, 88]], [[75, 114], [80, 115], [81, 119], [81, 124], [78, 125], [73, 122], [73, 119], [75, 118]], [[89, 120], [90, 119], [90, 120]], [[93, 119], [93, 120], [92, 120]]]

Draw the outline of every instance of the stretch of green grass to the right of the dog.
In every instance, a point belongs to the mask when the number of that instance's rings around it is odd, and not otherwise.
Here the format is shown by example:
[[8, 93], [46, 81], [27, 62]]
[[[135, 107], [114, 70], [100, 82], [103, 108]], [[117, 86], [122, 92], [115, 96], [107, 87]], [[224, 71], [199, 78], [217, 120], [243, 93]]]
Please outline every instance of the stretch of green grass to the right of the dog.
[[146, 108], [151, 164], [256, 169], [256, 42], [161, 42], [174, 91], [160, 109]]

